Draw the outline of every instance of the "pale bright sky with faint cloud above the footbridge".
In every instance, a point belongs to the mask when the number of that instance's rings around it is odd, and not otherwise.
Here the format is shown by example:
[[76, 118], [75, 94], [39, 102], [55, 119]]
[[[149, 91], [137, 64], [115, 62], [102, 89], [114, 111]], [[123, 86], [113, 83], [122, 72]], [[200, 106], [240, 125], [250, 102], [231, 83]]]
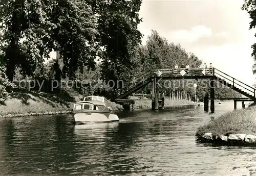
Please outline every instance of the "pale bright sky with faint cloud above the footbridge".
[[243, 0], [143, 0], [139, 12], [142, 43], [156, 30], [207, 65], [212, 62], [219, 70], [252, 85], [251, 45], [256, 42], [256, 31], [249, 30], [251, 19], [241, 10], [242, 5]]

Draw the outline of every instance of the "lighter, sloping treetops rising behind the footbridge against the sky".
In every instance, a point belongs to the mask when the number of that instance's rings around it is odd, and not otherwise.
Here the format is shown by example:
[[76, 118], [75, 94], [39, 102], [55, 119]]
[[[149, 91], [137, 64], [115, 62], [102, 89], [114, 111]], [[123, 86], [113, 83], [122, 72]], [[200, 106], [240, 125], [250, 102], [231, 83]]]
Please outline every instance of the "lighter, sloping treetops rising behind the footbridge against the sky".
[[142, 66], [143, 71], [158, 68], [172, 69], [175, 64], [181, 66], [182, 63], [191, 67], [202, 64], [193, 53], [188, 54], [180, 44], [168, 43], [154, 30], [151, 36], [147, 37], [146, 44], [137, 48], [134, 61], [138, 67]]

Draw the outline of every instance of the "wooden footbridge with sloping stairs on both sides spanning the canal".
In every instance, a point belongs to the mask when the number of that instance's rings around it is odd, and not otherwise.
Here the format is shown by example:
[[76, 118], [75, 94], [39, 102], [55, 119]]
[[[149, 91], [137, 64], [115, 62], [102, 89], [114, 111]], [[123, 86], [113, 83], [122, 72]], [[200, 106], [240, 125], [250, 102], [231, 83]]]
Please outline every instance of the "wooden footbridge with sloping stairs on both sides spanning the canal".
[[[143, 88], [147, 84], [152, 84], [152, 97], [153, 101], [157, 100], [157, 82], [160, 80], [181, 80], [181, 79], [209, 79], [210, 80], [210, 101], [211, 111], [214, 111], [214, 82], [215, 80], [225, 86], [241, 93], [248, 99], [256, 102], [255, 88], [239, 81], [228, 74], [220, 71], [217, 68], [179, 68], [179, 69], [159, 69], [151, 70], [141, 74], [131, 83], [127, 83], [122, 89], [118, 89], [115, 92], [115, 99], [127, 98], [127, 96]], [[115, 101], [114, 99], [114, 101]], [[152, 107], [153, 108], [153, 107]], [[154, 109], [154, 108], [153, 108]]]

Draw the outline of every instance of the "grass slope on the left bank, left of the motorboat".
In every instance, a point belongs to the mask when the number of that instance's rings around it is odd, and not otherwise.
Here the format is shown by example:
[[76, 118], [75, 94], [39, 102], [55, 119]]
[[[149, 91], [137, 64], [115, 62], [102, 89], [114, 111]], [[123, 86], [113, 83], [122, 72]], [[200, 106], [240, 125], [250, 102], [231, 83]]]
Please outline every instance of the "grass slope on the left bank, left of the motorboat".
[[77, 97], [62, 93], [12, 92], [11, 98], [0, 104], [0, 115], [70, 111]]

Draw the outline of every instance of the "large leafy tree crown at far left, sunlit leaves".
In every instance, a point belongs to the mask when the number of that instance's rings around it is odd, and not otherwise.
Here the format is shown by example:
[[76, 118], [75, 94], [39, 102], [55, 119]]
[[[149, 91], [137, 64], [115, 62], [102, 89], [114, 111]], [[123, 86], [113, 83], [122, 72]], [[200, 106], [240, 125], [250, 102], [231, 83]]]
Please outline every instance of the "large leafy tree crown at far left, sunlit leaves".
[[[60, 80], [63, 65], [70, 78], [85, 64], [93, 67], [97, 52], [96, 17], [91, 5], [82, 0], [4, 0], [0, 2], [3, 27], [4, 61], [12, 81], [14, 70], [21, 67], [32, 75], [42, 67], [52, 50], [59, 51], [55, 79]], [[61, 63], [60, 59], [63, 59]], [[70, 62], [68, 62], [70, 60]], [[67, 71], [69, 70], [69, 71]]]

